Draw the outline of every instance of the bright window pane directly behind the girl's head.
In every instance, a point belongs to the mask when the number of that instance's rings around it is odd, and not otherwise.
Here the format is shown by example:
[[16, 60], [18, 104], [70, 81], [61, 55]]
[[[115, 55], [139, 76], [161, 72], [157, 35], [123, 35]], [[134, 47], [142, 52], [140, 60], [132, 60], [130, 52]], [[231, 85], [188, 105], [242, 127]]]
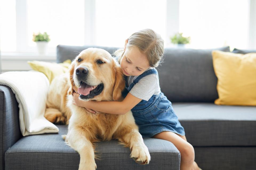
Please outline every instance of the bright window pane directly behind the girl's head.
[[131, 34], [144, 28], [165, 39], [166, 1], [95, 1], [95, 44], [122, 47]]

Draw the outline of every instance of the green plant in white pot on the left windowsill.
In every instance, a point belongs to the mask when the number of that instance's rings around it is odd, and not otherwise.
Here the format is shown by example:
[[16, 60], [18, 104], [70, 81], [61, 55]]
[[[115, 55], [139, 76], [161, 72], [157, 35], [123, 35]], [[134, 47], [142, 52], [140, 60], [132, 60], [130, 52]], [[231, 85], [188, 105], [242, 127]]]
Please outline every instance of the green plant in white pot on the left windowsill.
[[47, 54], [47, 45], [50, 41], [49, 35], [44, 32], [35, 34], [33, 33], [33, 41], [37, 43], [37, 50], [39, 54]]

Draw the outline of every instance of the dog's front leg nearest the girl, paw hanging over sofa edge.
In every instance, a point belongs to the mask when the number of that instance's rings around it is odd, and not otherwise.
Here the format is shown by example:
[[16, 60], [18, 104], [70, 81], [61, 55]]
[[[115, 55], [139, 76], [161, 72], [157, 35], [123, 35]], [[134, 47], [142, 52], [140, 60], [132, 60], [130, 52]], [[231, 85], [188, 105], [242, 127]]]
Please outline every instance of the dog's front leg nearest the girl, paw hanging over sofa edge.
[[[119, 138], [119, 141], [125, 143], [130, 147], [131, 158], [133, 158], [139, 164], [149, 164], [150, 154], [147, 146], [144, 144], [141, 134], [137, 128], [132, 128], [136, 125], [131, 125], [131, 128], [127, 126], [121, 130], [126, 131], [124, 135]], [[128, 130], [130, 129], [130, 130]], [[128, 131], [127, 131], [128, 130]]]

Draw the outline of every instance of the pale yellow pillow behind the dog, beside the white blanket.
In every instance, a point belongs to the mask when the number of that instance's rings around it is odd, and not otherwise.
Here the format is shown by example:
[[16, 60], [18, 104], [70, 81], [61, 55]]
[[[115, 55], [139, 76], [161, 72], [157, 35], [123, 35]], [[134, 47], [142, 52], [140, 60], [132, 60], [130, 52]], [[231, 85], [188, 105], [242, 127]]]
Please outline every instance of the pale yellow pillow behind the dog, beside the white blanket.
[[51, 83], [54, 77], [67, 71], [71, 64], [71, 60], [66, 60], [63, 63], [50, 63], [44, 61], [28, 61], [27, 63], [33, 70], [44, 73]]

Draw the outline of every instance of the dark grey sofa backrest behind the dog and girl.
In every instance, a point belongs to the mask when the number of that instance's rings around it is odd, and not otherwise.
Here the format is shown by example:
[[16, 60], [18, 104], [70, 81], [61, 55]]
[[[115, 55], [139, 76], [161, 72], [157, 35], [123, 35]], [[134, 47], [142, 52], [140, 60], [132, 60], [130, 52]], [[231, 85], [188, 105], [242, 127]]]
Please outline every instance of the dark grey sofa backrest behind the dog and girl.
[[[89, 47], [102, 48], [113, 55], [117, 47], [57, 46], [57, 63], [73, 60]], [[229, 47], [217, 49], [165, 48], [165, 58], [158, 66], [161, 91], [171, 102], [214, 102], [218, 98], [217, 77], [213, 70], [212, 50], [229, 52]]]

